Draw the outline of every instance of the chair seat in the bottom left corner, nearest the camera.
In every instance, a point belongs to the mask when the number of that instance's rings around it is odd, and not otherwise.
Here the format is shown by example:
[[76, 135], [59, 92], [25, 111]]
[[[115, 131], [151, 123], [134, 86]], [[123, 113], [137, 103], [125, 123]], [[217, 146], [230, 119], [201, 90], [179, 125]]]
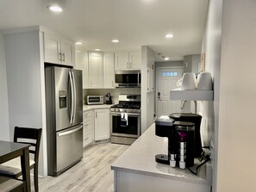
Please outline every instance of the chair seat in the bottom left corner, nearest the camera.
[[10, 177], [0, 176], [0, 191], [1, 192], [22, 192], [25, 191], [24, 183], [20, 180]]

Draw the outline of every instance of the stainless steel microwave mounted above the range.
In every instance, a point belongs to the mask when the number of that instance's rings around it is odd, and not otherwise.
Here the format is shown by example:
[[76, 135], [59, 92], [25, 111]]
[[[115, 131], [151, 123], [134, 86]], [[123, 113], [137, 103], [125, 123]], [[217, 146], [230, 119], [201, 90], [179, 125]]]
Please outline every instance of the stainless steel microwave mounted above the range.
[[140, 71], [116, 71], [116, 87], [140, 87]]

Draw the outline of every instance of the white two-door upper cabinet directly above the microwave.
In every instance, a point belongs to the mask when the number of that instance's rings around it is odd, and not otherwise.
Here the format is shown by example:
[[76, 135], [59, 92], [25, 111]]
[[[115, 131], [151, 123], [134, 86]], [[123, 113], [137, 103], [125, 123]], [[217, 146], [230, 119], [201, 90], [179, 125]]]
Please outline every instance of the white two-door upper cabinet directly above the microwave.
[[125, 52], [115, 53], [115, 70], [140, 70], [141, 53]]

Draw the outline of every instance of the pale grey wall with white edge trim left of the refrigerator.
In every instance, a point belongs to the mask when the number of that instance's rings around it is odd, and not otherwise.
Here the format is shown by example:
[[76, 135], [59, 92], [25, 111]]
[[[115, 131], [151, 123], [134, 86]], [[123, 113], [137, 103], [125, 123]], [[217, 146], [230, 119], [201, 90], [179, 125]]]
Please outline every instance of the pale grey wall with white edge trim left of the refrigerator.
[[[38, 31], [5, 34], [5, 59], [9, 99], [9, 131], [14, 127], [43, 128], [39, 175], [47, 175], [42, 34]], [[12, 136], [11, 136], [12, 137]]]

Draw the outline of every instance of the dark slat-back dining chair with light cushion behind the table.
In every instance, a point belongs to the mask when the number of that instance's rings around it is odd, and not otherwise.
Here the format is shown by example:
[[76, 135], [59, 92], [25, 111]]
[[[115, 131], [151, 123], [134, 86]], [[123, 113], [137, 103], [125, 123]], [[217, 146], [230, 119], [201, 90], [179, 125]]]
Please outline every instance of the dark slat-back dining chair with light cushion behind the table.
[[[14, 132], [14, 142], [31, 145], [29, 147], [29, 168], [30, 170], [34, 169], [34, 191], [36, 192], [38, 191], [38, 160], [41, 131], [41, 128], [15, 127]], [[21, 177], [21, 158], [14, 158], [0, 164], [0, 175], [16, 179]]]

